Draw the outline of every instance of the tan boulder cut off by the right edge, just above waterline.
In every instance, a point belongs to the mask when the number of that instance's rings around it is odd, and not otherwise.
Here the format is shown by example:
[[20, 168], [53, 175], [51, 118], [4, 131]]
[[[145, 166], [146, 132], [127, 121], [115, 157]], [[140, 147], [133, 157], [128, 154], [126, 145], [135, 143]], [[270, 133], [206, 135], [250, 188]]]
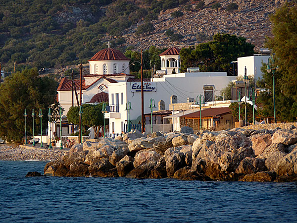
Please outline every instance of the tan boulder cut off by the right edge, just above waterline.
[[297, 174], [297, 150], [279, 160], [276, 173], [280, 176]]

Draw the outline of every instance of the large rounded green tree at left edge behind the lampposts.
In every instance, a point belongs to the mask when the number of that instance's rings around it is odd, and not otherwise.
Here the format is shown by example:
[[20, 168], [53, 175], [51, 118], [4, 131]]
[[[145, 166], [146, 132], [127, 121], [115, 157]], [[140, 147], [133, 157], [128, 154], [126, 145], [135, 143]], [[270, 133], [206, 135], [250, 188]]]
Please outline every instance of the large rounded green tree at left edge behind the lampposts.
[[[37, 69], [25, 69], [5, 79], [0, 85], [0, 137], [8, 141], [21, 142], [25, 135], [24, 110], [27, 109], [27, 134], [33, 132], [31, 112], [43, 111], [43, 126], [47, 126], [46, 115], [51, 107], [56, 112], [57, 82], [48, 77], [38, 77]], [[46, 90], [45, 90], [46, 89]], [[40, 118], [35, 116], [35, 133], [40, 132]]]

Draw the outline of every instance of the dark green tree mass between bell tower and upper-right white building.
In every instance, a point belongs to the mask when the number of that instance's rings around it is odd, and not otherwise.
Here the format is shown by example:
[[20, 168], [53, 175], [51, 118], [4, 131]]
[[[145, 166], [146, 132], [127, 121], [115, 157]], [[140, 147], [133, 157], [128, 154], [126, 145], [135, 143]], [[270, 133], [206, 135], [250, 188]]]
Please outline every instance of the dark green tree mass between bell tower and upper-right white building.
[[199, 67], [202, 72], [227, 71], [230, 62], [237, 57], [251, 56], [254, 46], [243, 37], [229, 34], [216, 34], [213, 41], [200, 43], [195, 48], [182, 48], [180, 52], [183, 61], [181, 70], [187, 67]]

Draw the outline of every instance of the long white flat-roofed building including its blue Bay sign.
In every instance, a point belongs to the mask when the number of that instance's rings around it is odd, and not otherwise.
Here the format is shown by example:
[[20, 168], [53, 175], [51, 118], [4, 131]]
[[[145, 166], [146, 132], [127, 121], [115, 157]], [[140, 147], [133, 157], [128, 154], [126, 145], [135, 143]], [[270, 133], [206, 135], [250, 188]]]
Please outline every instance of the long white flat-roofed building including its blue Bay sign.
[[[164, 75], [162, 78], [153, 78], [144, 82], [144, 112], [149, 113], [150, 99], [154, 100], [154, 104], [158, 107], [158, 102], [165, 102], [165, 109], [169, 108], [171, 96], [177, 97], [177, 102], [187, 102], [189, 98], [203, 95], [203, 87], [205, 85], [214, 85], [215, 92], [219, 92], [226, 85], [235, 80], [234, 76], [227, 76], [226, 72], [199, 72], [199, 73], [178, 73]], [[111, 83], [108, 85], [109, 92], [109, 111], [106, 118], [109, 118], [110, 133], [122, 133], [125, 129], [124, 125], [128, 121], [128, 111], [126, 104], [131, 103], [130, 120], [132, 123], [141, 123], [141, 82], [140, 80], [129, 79], [126, 82]], [[174, 103], [174, 102], [173, 102]], [[153, 111], [157, 111], [154, 108]], [[153, 124], [159, 120], [152, 120]], [[149, 124], [149, 120], [146, 120]]]

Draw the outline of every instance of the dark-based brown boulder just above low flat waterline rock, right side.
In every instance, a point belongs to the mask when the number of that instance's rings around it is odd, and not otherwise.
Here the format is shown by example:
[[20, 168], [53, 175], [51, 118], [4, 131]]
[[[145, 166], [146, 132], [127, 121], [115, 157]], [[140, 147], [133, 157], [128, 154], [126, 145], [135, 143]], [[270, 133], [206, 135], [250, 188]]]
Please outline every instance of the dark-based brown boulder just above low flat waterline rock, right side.
[[239, 167], [237, 167], [235, 172], [238, 174], [247, 175], [266, 170], [268, 169], [265, 166], [264, 159], [246, 157], [240, 162]]

